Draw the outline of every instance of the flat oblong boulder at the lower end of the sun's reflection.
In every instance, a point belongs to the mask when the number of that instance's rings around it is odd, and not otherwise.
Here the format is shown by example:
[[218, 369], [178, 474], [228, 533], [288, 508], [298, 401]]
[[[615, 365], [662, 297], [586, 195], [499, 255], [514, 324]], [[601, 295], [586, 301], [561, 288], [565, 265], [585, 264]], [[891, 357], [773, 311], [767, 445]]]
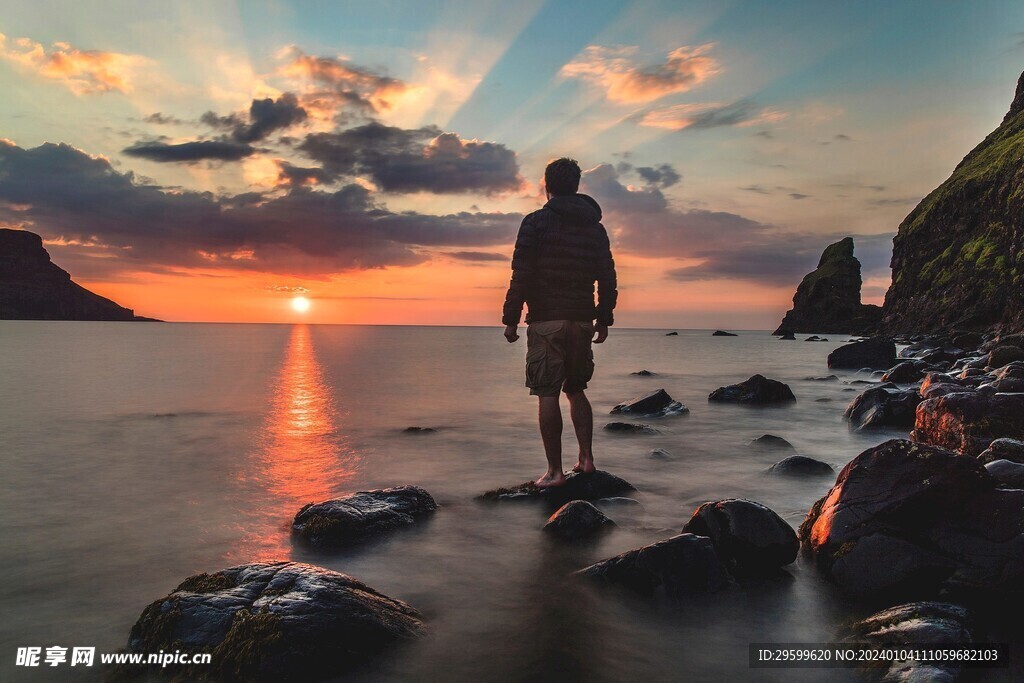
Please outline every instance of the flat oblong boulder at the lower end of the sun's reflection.
[[412, 524], [436, 509], [419, 486], [362, 490], [305, 505], [295, 515], [292, 533], [314, 546], [346, 546]]

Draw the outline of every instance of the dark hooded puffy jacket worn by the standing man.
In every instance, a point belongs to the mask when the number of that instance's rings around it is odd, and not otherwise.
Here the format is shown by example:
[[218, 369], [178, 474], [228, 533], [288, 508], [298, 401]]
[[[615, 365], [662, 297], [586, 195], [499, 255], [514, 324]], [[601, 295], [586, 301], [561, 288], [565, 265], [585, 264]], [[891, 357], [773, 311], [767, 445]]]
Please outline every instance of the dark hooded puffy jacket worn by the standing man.
[[522, 219], [503, 325], [518, 325], [523, 303], [529, 309], [526, 323], [596, 319], [611, 325], [617, 296], [615, 262], [597, 202], [586, 195], [553, 197]]

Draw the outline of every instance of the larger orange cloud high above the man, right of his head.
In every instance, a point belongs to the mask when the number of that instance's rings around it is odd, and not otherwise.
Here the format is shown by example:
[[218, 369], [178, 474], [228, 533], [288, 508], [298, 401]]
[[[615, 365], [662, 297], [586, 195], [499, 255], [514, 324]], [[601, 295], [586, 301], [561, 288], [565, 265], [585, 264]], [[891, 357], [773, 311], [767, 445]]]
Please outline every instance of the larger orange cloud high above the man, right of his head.
[[718, 74], [718, 60], [708, 54], [714, 47], [714, 43], [678, 47], [663, 63], [638, 66], [636, 47], [591, 45], [562, 67], [561, 74], [603, 88], [615, 102], [649, 102], [686, 92]]

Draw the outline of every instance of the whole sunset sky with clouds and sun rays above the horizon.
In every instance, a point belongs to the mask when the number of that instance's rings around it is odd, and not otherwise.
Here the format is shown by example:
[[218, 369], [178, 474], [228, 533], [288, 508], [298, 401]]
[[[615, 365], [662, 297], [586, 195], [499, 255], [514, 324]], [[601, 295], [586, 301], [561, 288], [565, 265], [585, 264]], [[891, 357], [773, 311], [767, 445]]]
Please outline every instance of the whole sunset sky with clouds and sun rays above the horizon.
[[0, 226], [169, 321], [499, 325], [570, 156], [617, 325], [774, 328], [847, 234], [881, 303], [1022, 32], [1019, 0], [6, 3]]

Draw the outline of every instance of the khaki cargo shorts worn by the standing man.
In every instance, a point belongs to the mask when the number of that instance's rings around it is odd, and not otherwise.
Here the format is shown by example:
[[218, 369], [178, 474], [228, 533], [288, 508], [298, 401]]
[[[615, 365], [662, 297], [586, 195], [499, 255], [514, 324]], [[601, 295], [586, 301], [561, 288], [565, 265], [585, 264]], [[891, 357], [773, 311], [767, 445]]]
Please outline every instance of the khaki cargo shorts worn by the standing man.
[[577, 393], [594, 376], [594, 324], [544, 321], [526, 328], [526, 386], [534, 396]]

